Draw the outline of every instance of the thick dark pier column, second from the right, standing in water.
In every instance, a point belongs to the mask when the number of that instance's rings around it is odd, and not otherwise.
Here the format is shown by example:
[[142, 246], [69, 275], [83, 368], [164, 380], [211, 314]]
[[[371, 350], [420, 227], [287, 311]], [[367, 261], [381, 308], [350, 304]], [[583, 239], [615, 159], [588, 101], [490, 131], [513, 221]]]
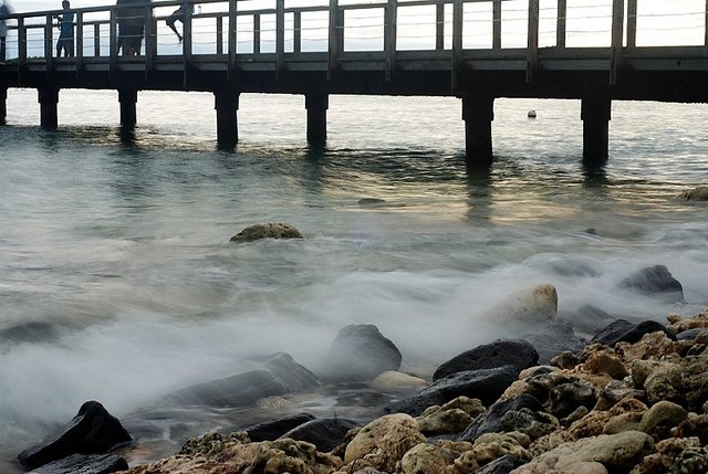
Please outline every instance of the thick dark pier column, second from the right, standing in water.
[[491, 123], [494, 119], [494, 97], [464, 96], [462, 119], [465, 120], [467, 162], [481, 166], [491, 165]]

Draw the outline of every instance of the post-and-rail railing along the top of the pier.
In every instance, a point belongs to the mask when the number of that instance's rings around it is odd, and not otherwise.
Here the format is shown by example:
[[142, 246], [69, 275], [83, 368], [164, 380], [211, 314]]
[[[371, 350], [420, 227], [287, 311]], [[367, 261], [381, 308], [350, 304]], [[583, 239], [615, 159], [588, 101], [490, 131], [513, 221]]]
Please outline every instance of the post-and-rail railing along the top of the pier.
[[53, 54], [61, 10], [7, 15], [2, 67], [388, 74], [465, 62], [525, 70], [529, 78], [540, 65], [608, 70], [611, 81], [627, 61], [635, 69], [708, 69], [705, 0], [199, 0], [177, 23], [184, 41], [165, 24], [180, 3], [136, 4], [144, 23], [137, 56], [119, 51], [116, 6], [72, 9], [73, 57]]

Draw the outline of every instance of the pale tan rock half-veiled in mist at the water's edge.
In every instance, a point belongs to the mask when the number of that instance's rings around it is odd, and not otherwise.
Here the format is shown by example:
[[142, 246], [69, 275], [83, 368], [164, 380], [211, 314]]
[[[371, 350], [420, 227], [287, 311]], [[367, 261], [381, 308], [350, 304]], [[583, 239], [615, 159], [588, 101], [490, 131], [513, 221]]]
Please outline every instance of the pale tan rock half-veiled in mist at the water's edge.
[[487, 312], [490, 319], [512, 320], [522, 324], [548, 322], [558, 317], [558, 292], [551, 284], [510, 295], [503, 303]]

